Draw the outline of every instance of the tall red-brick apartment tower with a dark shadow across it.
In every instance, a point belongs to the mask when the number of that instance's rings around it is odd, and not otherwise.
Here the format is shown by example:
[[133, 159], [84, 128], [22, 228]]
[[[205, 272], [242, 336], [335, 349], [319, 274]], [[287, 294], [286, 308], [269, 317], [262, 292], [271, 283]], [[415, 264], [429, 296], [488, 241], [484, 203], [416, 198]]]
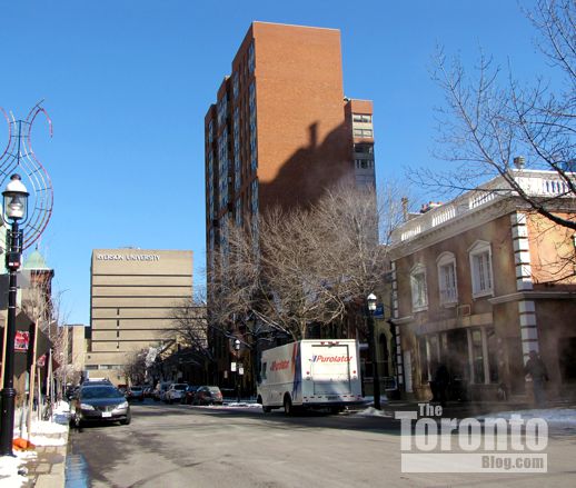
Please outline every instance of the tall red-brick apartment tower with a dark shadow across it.
[[339, 30], [254, 22], [206, 114], [205, 150], [208, 279], [229, 226], [345, 180], [374, 186], [373, 103], [344, 96]]

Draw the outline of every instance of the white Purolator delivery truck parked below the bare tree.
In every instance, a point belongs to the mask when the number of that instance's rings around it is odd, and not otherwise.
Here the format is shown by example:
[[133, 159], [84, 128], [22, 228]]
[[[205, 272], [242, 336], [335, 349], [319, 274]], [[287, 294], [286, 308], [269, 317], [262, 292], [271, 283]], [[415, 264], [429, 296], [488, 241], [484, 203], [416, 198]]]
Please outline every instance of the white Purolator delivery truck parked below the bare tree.
[[258, 402], [287, 415], [363, 404], [358, 350], [352, 339], [307, 339], [262, 351]]

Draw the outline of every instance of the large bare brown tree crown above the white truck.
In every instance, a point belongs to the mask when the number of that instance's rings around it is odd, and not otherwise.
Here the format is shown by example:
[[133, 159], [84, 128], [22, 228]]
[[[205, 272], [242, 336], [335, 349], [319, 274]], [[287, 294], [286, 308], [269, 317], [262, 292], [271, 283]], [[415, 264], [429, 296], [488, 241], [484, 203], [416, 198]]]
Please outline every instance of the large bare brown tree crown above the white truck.
[[232, 226], [210, 277], [211, 318], [254, 315], [268, 331], [306, 338], [312, 323], [341, 320], [351, 301], [378, 289], [391, 230], [401, 222], [393, 186], [378, 202], [373, 189], [339, 187], [315, 206], [274, 209], [249, 229]]

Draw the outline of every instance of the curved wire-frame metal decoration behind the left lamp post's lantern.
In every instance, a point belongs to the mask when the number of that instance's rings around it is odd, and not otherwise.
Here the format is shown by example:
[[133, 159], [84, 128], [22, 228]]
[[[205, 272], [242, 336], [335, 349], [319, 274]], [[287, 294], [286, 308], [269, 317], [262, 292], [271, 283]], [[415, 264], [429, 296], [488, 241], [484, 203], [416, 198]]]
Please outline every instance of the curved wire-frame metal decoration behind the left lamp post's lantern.
[[39, 239], [52, 216], [52, 182], [32, 150], [32, 127], [40, 113], [46, 117], [52, 137], [52, 120], [41, 103], [42, 101], [38, 102], [30, 110], [26, 120], [16, 120], [12, 112], [7, 113], [0, 107], [8, 123], [8, 143], [0, 155], [0, 188], [4, 188], [10, 176], [18, 172], [30, 192], [28, 219], [22, 225], [22, 249], [29, 248]]

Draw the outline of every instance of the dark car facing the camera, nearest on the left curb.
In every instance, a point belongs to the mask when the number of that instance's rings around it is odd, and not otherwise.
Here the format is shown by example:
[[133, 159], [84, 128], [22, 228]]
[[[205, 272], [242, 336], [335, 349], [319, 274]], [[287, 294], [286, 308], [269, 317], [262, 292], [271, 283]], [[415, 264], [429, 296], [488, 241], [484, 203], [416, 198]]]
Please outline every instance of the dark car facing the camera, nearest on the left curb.
[[82, 385], [72, 399], [70, 414], [70, 421], [77, 427], [91, 420], [119, 421], [125, 426], [131, 421], [128, 400], [110, 384]]

